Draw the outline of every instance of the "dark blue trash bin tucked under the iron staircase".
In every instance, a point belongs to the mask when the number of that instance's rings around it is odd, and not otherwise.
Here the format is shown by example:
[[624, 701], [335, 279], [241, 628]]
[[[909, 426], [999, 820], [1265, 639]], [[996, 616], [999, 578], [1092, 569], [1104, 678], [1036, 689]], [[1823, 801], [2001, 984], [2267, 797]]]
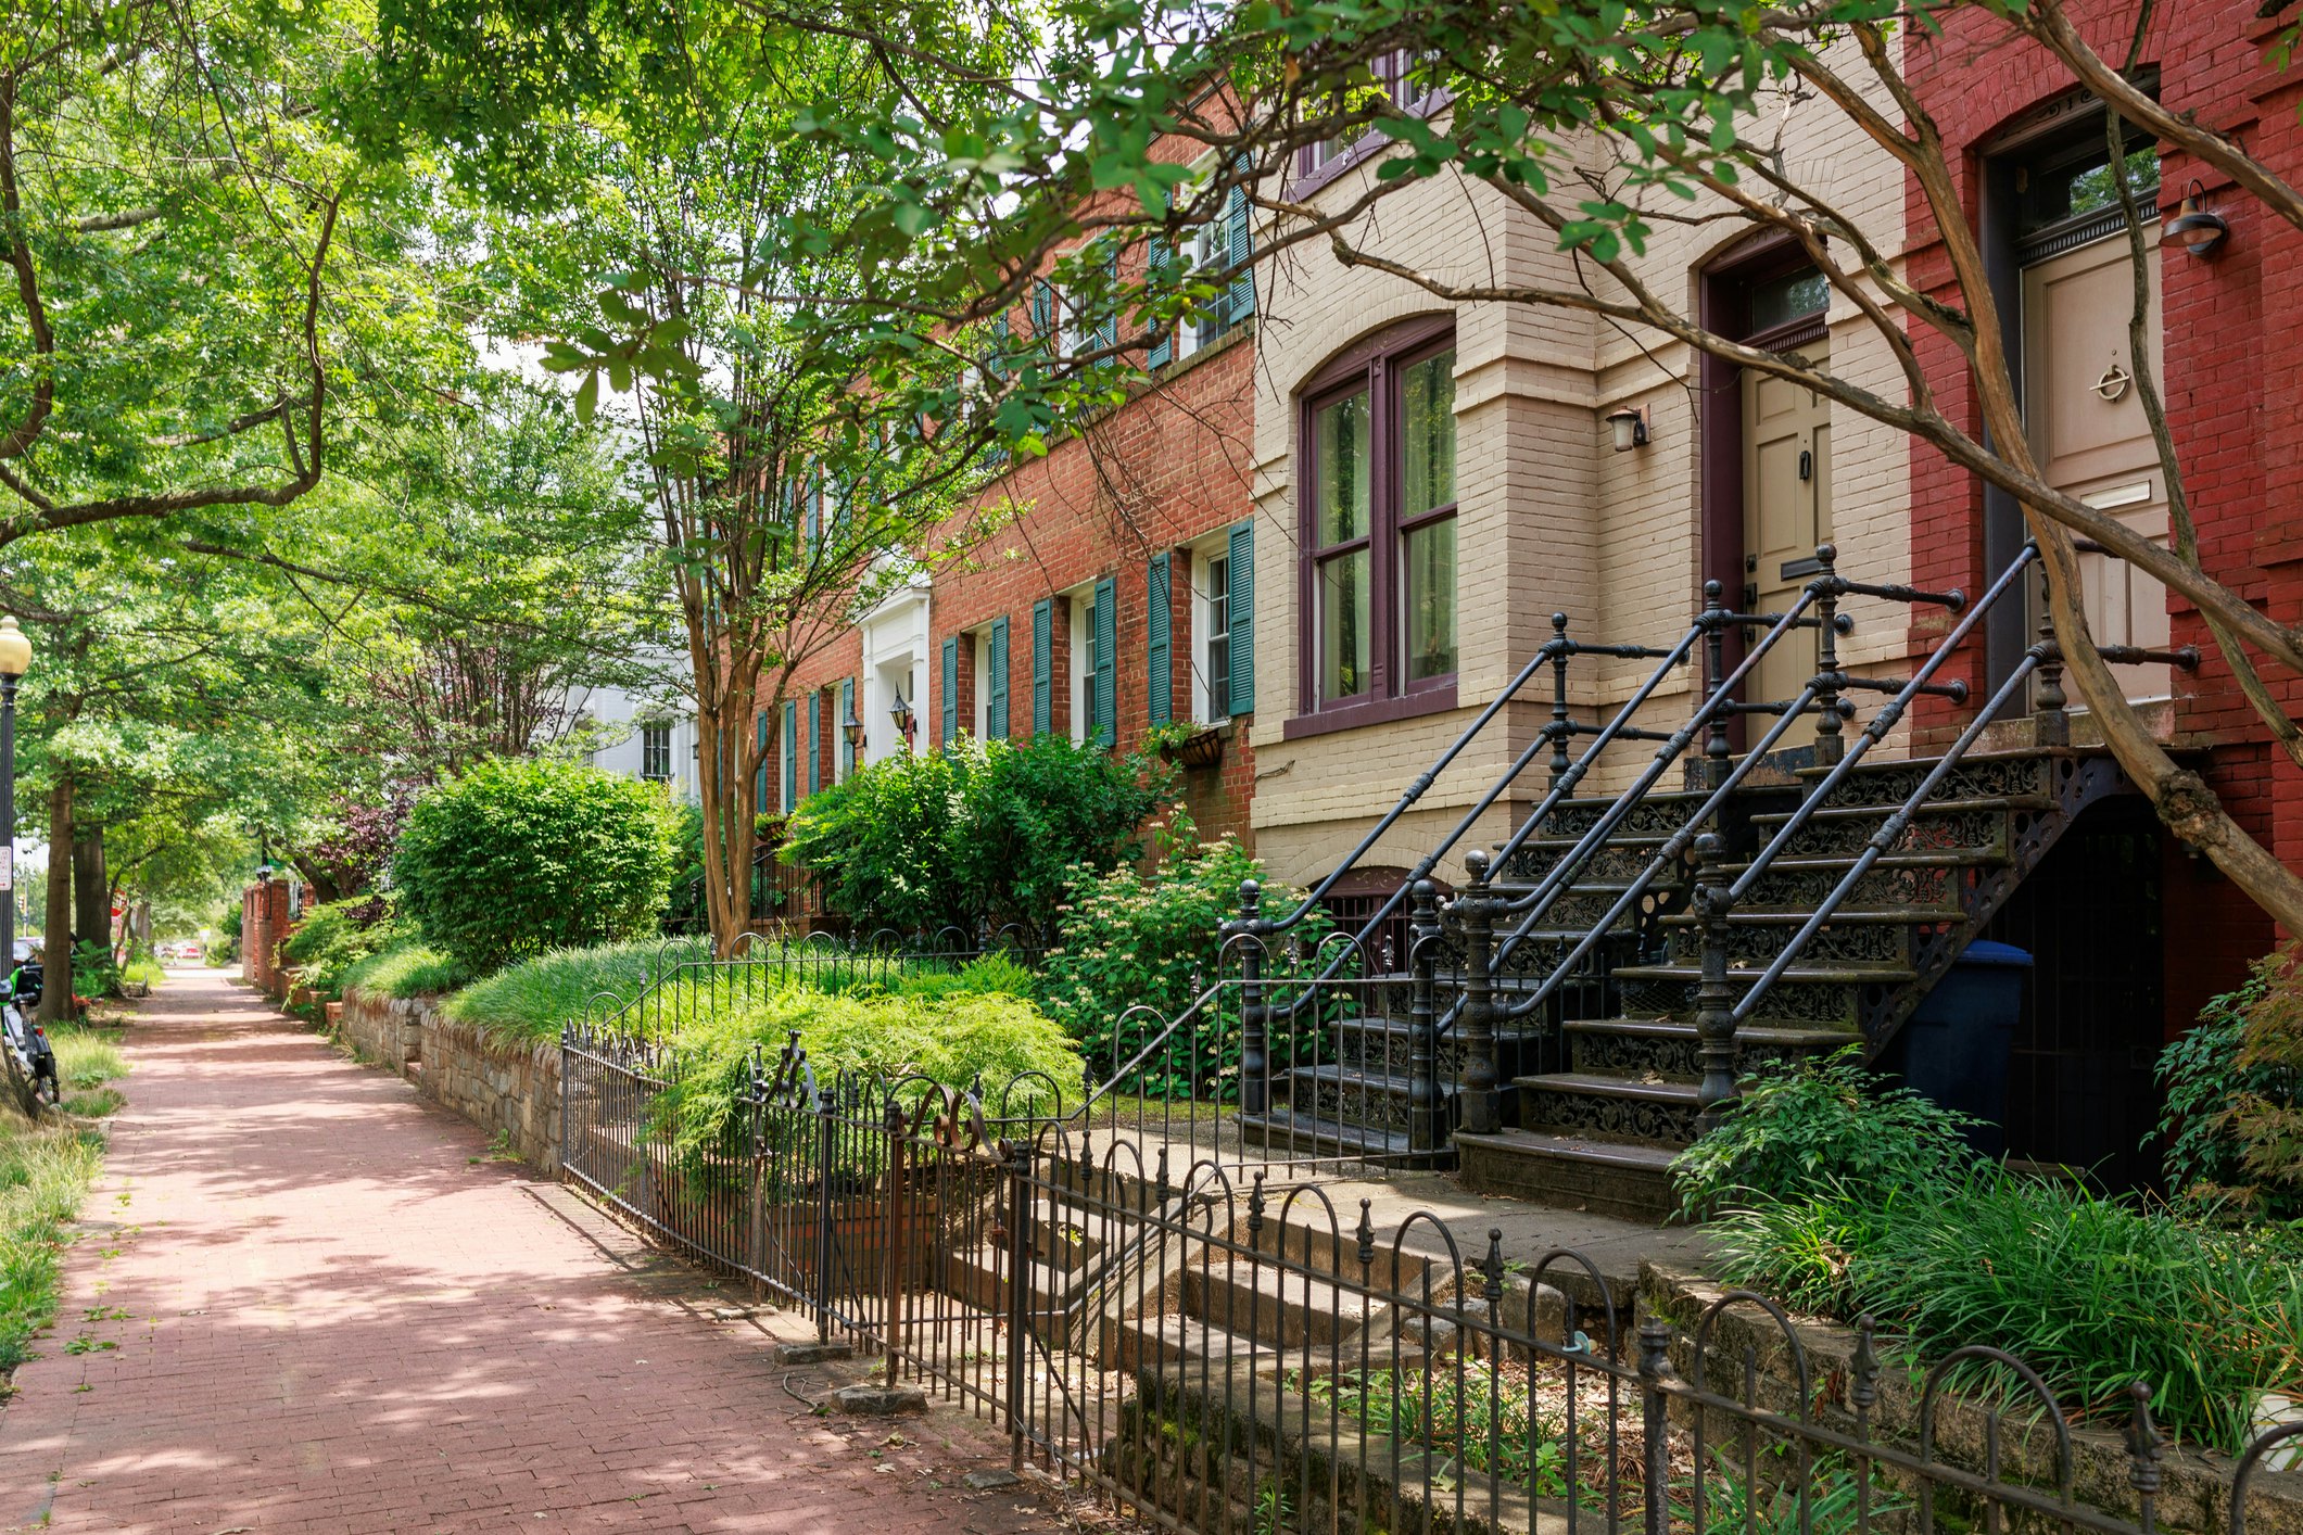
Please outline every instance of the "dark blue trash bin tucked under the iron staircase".
[[1987, 1158], [2006, 1155], [2008, 1059], [2029, 971], [2031, 955], [2013, 944], [1969, 944], [1884, 1061], [1905, 1086], [1983, 1121], [1967, 1141]]

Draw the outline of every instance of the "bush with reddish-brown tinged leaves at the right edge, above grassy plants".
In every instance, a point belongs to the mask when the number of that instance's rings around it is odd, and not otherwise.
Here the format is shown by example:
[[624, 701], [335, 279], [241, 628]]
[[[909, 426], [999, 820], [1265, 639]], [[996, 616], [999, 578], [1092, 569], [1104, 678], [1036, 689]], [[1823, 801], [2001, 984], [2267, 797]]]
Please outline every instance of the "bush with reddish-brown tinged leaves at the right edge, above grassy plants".
[[2255, 964], [2160, 1052], [2167, 1187], [2241, 1220], [2303, 1220], [2303, 976], [2298, 950]]

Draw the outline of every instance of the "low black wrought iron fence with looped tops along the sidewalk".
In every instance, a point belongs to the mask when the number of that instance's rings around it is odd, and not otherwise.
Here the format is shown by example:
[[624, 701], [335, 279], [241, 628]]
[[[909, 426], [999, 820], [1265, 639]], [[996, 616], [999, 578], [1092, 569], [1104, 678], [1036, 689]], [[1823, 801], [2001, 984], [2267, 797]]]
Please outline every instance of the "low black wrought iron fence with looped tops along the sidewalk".
[[[732, 1084], [732, 1091], [728, 1091]], [[675, 1116], [723, 1091], [728, 1114]], [[822, 1337], [1006, 1429], [1034, 1464], [1177, 1530], [2248, 1535], [2303, 1521], [2303, 1425], [2236, 1461], [2112, 1429], [1997, 1349], [1916, 1369], [1771, 1300], [1640, 1305], [1571, 1250], [1377, 1229], [1315, 1183], [928, 1082], [815, 1082], [571, 1031], [567, 1176], [753, 1280]], [[691, 1125], [686, 1130], [675, 1128]], [[696, 1132], [693, 1123], [716, 1125]], [[1667, 1307], [1665, 1307], [1667, 1312]]]

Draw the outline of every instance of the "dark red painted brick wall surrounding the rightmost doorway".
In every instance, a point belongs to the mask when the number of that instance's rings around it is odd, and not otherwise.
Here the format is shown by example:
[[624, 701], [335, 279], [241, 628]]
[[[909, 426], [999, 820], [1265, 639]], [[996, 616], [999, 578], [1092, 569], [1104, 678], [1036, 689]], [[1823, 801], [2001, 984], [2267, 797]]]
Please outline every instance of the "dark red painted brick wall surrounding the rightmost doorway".
[[[2126, 58], [2135, 0], [2070, 9], [2100, 53]], [[2303, 85], [2264, 64], [2268, 28], [2252, 16], [2252, 0], [2158, 5], [2139, 58], [2158, 64], [2169, 108], [2239, 136], [2291, 177], [2303, 170], [2296, 122]], [[1911, 35], [1909, 71], [1944, 140], [1960, 150], [1953, 168], [1974, 221], [1981, 147], [2024, 110], [2070, 92], [2073, 81], [2043, 48], [1981, 9], [1951, 12], [1946, 23], [1941, 39]], [[2206, 571], [2294, 624], [2303, 617], [2303, 435], [2294, 430], [2303, 412], [2303, 348], [2280, 336], [2303, 297], [2303, 232], [2163, 145], [2160, 212], [2172, 214], [2192, 182], [2232, 235], [2211, 260], [2172, 242], [2160, 251], [2167, 417]], [[1909, 274], [1958, 299], [1916, 177], [1907, 184], [1907, 214]], [[1951, 343], [1918, 327], [1914, 343], [1946, 414], [1981, 435], [1981, 412]], [[1914, 442], [1911, 509], [1914, 580], [1974, 591], [1987, 578], [1981, 481]], [[2172, 598], [2172, 624], [2176, 644], [2213, 651], [2188, 601]], [[1914, 628], [1914, 642], [1921, 637]], [[2289, 713], [2303, 709], [2303, 684], [2275, 679], [2275, 686]], [[1932, 723], [1946, 725], [1946, 711]], [[2176, 736], [2202, 748], [2202, 769], [2232, 815], [2282, 863], [2303, 865], [2303, 782], [2285, 759], [2273, 762], [2262, 723], [2213, 656], [2192, 679], [2179, 679]], [[2181, 1029], [2206, 996], [2236, 985], [2245, 962], [2275, 934], [2252, 902], [2179, 847], [2167, 849], [2165, 888], [2167, 1022]]]

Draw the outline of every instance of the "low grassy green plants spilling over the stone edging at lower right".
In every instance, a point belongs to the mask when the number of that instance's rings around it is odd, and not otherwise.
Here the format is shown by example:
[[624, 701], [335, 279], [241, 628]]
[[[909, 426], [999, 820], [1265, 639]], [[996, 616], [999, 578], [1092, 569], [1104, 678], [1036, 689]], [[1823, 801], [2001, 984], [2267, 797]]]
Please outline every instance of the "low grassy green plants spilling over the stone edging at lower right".
[[2165, 1427], [2220, 1450], [2243, 1443], [2257, 1392], [2303, 1385], [2294, 1229], [2215, 1229], [1974, 1164], [1762, 1201], [1709, 1234], [1732, 1284], [1870, 1312], [1921, 1355], [1994, 1344], [2112, 1418], [2144, 1381]]

